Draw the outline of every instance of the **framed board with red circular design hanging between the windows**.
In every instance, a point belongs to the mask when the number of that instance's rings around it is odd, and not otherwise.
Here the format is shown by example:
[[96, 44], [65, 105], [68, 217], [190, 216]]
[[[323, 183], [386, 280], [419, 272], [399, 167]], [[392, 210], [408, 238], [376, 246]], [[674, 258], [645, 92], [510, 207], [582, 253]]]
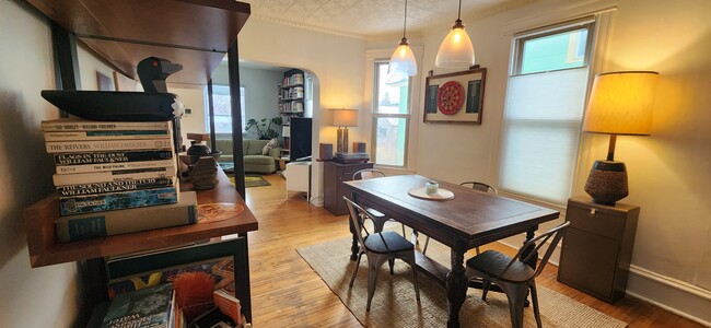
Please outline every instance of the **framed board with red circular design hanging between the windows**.
[[424, 122], [481, 124], [486, 68], [427, 78]]

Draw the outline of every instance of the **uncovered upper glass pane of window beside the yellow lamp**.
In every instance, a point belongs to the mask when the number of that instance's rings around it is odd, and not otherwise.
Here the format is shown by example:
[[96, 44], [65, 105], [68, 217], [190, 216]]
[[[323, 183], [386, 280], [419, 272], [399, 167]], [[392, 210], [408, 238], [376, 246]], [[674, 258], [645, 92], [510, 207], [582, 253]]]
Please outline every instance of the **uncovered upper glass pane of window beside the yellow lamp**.
[[587, 28], [567, 31], [523, 42], [521, 73], [545, 72], [585, 65]]

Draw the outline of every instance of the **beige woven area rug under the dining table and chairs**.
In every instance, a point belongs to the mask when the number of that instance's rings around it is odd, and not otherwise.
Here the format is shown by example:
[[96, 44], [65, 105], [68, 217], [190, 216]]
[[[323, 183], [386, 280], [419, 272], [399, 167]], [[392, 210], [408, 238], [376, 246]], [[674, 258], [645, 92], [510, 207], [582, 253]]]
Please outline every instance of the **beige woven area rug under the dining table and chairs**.
[[[428, 256], [448, 263], [450, 251], [444, 245], [430, 242]], [[341, 300], [365, 327], [444, 327], [447, 303], [444, 288], [429, 276], [418, 271], [420, 304], [415, 297], [410, 267], [395, 262], [395, 274], [387, 265], [377, 274], [377, 286], [371, 304], [368, 300], [368, 260], [365, 256], [352, 288], [350, 277], [356, 261], [350, 258], [350, 238], [336, 239], [296, 249], [301, 257], [320, 276], [320, 279]], [[447, 265], [448, 266], [448, 265]], [[627, 324], [555, 291], [538, 286], [538, 300], [544, 327], [626, 327]], [[459, 312], [462, 327], [511, 327], [509, 305], [502, 293], [490, 292], [481, 301], [481, 291], [469, 289]], [[524, 327], [536, 327], [533, 307], [525, 308]]]

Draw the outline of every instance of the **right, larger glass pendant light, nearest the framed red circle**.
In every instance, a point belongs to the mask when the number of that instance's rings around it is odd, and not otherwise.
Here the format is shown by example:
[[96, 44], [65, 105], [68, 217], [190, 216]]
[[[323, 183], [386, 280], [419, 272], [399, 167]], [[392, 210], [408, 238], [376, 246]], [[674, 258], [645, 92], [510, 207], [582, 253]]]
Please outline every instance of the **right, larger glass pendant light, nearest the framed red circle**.
[[468, 69], [474, 65], [474, 46], [469, 35], [464, 30], [461, 20], [462, 0], [457, 20], [452, 25], [450, 34], [442, 40], [440, 50], [436, 51], [434, 66], [447, 69]]

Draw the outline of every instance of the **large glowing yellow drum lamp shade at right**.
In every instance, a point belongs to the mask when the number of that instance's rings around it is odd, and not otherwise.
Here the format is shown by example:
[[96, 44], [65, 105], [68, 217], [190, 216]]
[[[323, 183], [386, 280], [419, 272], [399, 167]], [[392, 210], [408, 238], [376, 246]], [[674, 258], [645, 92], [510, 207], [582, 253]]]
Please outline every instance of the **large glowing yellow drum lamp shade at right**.
[[657, 72], [609, 72], [595, 77], [583, 131], [649, 136]]

